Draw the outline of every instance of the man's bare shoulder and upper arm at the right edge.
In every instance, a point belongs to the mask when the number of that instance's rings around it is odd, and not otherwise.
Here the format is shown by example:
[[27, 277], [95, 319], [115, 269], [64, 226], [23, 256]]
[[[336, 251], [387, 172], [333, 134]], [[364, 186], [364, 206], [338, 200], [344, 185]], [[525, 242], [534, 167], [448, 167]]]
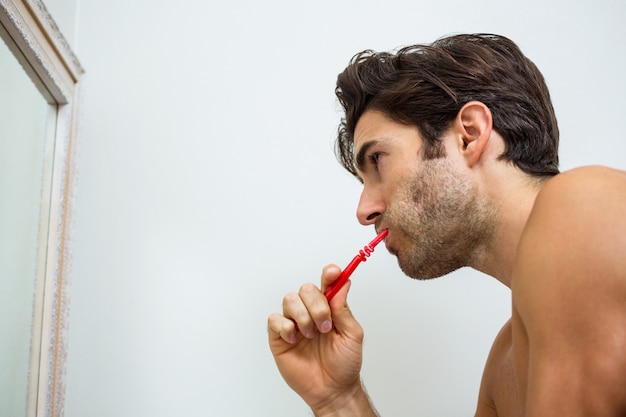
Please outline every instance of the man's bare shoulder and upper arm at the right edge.
[[525, 415], [625, 415], [624, 173], [583, 168], [544, 186], [512, 290]]

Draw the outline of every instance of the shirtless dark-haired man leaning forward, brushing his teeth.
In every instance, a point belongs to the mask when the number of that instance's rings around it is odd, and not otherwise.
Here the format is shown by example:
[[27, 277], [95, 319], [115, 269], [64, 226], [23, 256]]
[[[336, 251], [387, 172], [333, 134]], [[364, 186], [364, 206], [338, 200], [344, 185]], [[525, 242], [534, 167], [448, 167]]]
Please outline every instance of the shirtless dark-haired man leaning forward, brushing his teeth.
[[[511, 288], [476, 416], [626, 415], [626, 173], [559, 173], [535, 65], [504, 37], [458, 35], [358, 54], [336, 93], [339, 158], [363, 183], [357, 217], [389, 229], [403, 272], [470, 266]], [[330, 303], [322, 293], [339, 273], [285, 296], [270, 348], [316, 416], [376, 416], [349, 283]]]

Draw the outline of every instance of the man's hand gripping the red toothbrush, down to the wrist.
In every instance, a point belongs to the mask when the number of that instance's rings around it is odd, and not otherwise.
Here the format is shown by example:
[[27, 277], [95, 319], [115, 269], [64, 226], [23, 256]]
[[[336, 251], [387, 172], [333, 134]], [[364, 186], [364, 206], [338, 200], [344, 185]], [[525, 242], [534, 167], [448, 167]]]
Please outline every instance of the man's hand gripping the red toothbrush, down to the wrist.
[[281, 375], [318, 416], [339, 415], [349, 403], [371, 411], [360, 381], [363, 329], [346, 302], [350, 282], [330, 303], [322, 292], [340, 272], [335, 265], [325, 267], [321, 290], [305, 284], [287, 294], [282, 315], [274, 313], [267, 321]]

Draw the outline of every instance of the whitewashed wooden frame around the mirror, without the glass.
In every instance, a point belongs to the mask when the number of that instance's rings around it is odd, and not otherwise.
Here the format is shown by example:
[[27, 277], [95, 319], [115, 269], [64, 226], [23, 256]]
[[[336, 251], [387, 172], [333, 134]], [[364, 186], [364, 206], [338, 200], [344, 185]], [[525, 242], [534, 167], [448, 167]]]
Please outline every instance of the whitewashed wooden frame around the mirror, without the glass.
[[64, 413], [70, 240], [76, 181], [78, 103], [84, 70], [41, 0], [0, 0], [0, 37], [56, 108], [46, 149], [27, 416]]

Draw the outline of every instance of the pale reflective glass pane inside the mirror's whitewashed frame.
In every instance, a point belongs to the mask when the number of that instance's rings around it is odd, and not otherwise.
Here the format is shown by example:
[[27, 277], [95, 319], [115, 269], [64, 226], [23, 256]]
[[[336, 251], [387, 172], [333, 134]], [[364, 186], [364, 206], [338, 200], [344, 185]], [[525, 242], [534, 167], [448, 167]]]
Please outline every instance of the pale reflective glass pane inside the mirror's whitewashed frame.
[[[50, 106], [0, 42], [0, 415], [26, 412]], [[9, 99], [10, 98], [10, 99]], [[51, 132], [54, 133], [54, 132]]]

